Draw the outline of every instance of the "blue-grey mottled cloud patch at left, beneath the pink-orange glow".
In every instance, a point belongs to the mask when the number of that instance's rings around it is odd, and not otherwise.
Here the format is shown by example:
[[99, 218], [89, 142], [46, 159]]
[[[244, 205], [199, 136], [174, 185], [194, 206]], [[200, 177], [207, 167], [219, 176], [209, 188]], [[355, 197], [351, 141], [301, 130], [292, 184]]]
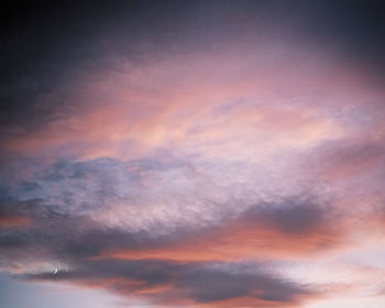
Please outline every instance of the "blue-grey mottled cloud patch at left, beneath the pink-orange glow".
[[194, 173], [188, 163], [168, 153], [156, 153], [156, 158], [129, 162], [99, 158], [88, 162], [58, 161], [48, 166], [34, 166], [35, 162], [30, 164], [25, 168], [32, 169], [33, 176], [15, 184], [9, 184], [9, 177], [18, 173], [21, 165], [4, 168], [4, 177], [0, 179], [3, 191], [19, 200], [40, 199], [42, 204], [53, 206], [53, 209], [56, 206], [57, 210], [108, 207], [117, 200], [141, 195], [144, 188], [142, 182], [151, 177], [161, 178], [164, 172]]

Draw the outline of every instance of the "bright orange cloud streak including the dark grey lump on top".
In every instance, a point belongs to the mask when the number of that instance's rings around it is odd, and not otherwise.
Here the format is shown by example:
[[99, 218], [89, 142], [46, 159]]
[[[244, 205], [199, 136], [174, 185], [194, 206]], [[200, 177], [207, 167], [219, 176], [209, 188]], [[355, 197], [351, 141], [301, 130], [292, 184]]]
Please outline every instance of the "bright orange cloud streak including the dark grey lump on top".
[[[290, 206], [287, 202], [292, 204]], [[339, 221], [339, 228], [336, 223]], [[354, 245], [351, 226], [329, 207], [309, 201], [255, 205], [217, 227], [180, 232], [180, 237], [139, 250], [117, 249], [103, 256], [124, 260], [235, 261], [314, 257]]]

